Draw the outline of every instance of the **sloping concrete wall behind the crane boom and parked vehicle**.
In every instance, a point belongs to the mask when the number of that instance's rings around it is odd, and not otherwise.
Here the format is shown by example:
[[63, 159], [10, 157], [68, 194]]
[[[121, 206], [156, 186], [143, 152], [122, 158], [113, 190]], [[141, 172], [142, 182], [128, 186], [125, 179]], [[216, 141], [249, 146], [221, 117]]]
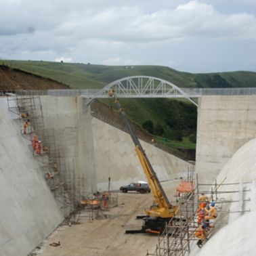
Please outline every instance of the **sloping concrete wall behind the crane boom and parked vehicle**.
[[[98, 190], [108, 189], [108, 177], [111, 178], [112, 189], [138, 180], [146, 181], [130, 135], [95, 118], [92, 125]], [[186, 177], [190, 163], [152, 144], [140, 142], [158, 179]]]

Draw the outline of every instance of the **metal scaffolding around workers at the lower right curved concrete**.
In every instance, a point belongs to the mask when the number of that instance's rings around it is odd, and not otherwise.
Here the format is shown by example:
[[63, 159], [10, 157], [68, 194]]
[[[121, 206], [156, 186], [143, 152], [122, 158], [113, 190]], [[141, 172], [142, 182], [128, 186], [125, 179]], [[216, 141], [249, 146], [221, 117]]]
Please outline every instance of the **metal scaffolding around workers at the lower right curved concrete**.
[[[189, 176], [189, 175], [188, 175]], [[190, 176], [190, 181], [192, 176]], [[227, 222], [227, 213], [246, 213], [249, 209], [244, 209], [244, 202], [249, 201], [250, 198], [244, 196], [244, 193], [251, 191], [248, 188], [244, 188], [250, 184], [250, 182], [230, 183], [225, 184], [226, 179], [219, 184], [215, 180], [214, 184], [200, 184], [198, 182], [198, 175], [196, 175], [196, 187], [194, 192], [186, 195], [179, 196], [177, 202], [179, 207], [179, 214], [173, 217], [167, 224], [163, 234], [158, 236], [158, 242], [154, 253], [147, 252], [147, 256], [185, 256], [189, 255], [192, 242], [198, 240], [195, 236], [195, 232], [200, 225], [198, 222], [198, 205], [200, 194], [207, 194], [209, 201], [214, 201], [217, 207], [217, 221], [214, 226], [225, 226]], [[228, 186], [232, 186], [232, 190], [228, 189]], [[234, 189], [237, 186], [237, 189]], [[206, 188], [210, 188], [210, 190]], [[226, 189], [220, 190], [220, 188], [226, 187]], [[226, 200], [224, 194], [238, 193], [238, 200]], [[223, 204], [238, 203], [238, 209], [234, 211], [223, 210]], [[208, 236], [212, 236], [215, 232], [214, 228], [208, 228]]]

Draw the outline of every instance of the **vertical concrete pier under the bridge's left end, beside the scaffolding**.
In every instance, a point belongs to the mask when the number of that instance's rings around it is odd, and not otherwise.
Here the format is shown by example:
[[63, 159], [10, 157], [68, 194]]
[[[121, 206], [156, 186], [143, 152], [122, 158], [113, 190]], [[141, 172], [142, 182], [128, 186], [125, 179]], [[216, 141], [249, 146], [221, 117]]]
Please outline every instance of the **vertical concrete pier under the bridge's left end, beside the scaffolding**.
[[[41, 97], [45, 129], [54, 129], [66, 170], [74, 171], [76, 181], [85, 177], [85, 193], [95, 192], [93, 133], [90, 108], [81, 97]], [[82, 187], [82, 186], [81, 186]]]

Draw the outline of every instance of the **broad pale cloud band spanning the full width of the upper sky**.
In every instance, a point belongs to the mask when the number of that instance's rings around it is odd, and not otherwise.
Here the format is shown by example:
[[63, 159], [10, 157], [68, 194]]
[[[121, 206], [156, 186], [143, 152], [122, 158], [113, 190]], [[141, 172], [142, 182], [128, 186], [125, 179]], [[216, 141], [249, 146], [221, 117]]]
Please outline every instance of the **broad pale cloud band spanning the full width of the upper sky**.
[[188, 37], [256, 39], [254, 15], [224, 14], [217, 12], [213, 5], [197, 0], [151, 12], [141, 5], [119, 3], [114, 6], [114, 1], [104, 9], [99, 4], [79, 0], [75, 0], [74, 5], [63, 5], [59, 0], [45, 1], [44, 5], [30, 0], [12, 0], [14, 7], [10, 9], [4, 4], [6, 0], [0, 1], [3, 2], [0, 36], [35, 33], [37, 29], [54, 32], [56, 37], [64, 39], [71, 37], [73, 41], [100, 39], [137, 43]]

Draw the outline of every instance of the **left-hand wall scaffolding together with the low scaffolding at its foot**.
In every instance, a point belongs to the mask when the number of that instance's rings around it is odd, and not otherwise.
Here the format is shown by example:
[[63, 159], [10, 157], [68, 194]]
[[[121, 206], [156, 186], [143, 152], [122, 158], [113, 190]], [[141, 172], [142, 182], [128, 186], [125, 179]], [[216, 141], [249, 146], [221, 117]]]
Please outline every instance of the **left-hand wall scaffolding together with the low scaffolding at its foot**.
[[[85, 193], [84, 175], [75, 173], [74, 160], [67, 160], [65, 151], [60, 146], [60, 134], [56, 135], [54, 128], [45, 127], [40, 95], [37, 93], [34, 95], [33, 91], [15, 91], [7, 95], [7, 104], [9, 111], [18, 116], [22, 136], [31, 142], [35, 137], [41, 141], [42, 149], [37, 152], [31, 144], [31, 152], [35, 160], [41, 163], [45, 181], [56, 201], [60, 203], [64, 217], [70, 219], [71, 215], [81, 210], [82, 199], [93, 198], [93, 194]], [[25, 131], [24, 123], [26, 122], [28, 122], [28, 127]], [[53, 127], [52, 124], [51, 127]], [[93, 218], [95, 215], [102, 215], [100, 211], [107, 211], [116, 205], [117, 193], [108, 191], [102, 194], [97, 211], [91, 205], [86, 206], [85, 209]]]

